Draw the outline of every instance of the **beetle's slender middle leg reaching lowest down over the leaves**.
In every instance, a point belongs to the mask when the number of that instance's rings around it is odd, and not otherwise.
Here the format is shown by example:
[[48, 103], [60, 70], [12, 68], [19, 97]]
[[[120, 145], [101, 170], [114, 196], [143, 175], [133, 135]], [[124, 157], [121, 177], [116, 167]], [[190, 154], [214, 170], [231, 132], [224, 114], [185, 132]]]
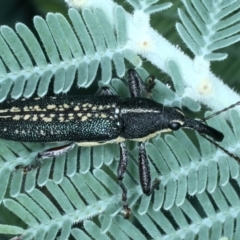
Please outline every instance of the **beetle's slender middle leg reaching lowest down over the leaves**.
[[124, 143], [119, 143], [119, 146], [120, 146], [120, 161], [117, 169], [117, 177], [118, 177], [118, 183], [122, 188], [122, 202], [123, 202], [123, 209], [125, 211], [125, 218], [128, 218], [131, 210], [128, 207], [128, 203], [127, 203], [127, 188], [124, 186], [122, 182], [123, 176], [127, 170], [128, 154], [127, 154], [127, 148]]

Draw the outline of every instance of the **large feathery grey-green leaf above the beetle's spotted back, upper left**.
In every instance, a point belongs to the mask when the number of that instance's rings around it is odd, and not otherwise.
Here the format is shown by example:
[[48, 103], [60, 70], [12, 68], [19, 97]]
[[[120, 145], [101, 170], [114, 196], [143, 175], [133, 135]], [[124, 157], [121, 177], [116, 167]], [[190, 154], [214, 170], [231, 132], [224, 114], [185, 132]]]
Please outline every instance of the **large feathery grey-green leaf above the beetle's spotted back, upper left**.
[[82, 15], [70, 9], [68, 14], [70, 23], [59, 13], [49, 13], [46, 20], [34, 18], [41, 42], [24, 24], [17, 23], [16, 32], [7, 26], [0, 28], [1, 101], [9, 95], [13, 99], [29, 98], [35, 92], [43, 97], [52, 79], [54, 93], [66, 93], [76, 75], [77, 86], [86, 88], [95, 79], [99, 67], [102, 84], [108, 84], [112, 64], [119, 77], [126, 71], [124, 59], [135, 66], [141, 64], [140, 58], [125, 48], [123, 9], [116, 9], [114, 26], [100, 9], [93, 12], [85, 9]]

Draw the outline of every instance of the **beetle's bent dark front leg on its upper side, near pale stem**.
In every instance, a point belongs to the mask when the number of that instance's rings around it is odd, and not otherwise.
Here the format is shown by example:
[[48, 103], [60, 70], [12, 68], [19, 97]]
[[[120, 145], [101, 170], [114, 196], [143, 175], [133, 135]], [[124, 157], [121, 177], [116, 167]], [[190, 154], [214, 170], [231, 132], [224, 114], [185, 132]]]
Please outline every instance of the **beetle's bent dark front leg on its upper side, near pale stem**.
[[151, 93], [155, 86], [154, 77], [150, 76], [145, 84], [134, 69], [128, 70], [128, 85], [132, 97], [141, 97], [141, 90]]

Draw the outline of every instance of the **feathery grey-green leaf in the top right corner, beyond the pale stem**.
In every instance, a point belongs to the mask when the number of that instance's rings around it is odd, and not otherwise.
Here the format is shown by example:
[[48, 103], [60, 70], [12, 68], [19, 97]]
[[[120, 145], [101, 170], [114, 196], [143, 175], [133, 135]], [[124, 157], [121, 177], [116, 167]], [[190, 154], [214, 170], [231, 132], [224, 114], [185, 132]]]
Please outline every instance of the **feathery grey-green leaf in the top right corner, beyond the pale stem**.
[[202, 55], [209, 61], [227, 58], [226, 53], [213, 51], [239, 41], [239, 1], [182, 0], [182, 2], [188, 15], [179, 9], [182, 24], [177, 23], [176, 27], [194, 55]]

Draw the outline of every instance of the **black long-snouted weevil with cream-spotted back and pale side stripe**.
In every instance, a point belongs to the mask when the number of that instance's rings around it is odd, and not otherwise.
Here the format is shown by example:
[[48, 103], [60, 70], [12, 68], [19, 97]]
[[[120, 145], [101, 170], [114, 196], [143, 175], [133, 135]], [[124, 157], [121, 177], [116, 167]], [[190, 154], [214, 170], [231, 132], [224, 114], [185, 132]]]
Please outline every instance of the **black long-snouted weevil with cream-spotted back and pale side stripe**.
[[159, 180], [151, 183], [145, 141], [166, 131], [190, 128], [215, 141], [223, 134], [201, 121], [190, 119], [176, 108], [165, 107], [154, 100], [141, 97], [142, 90], [150, 92], [154, 81], [147, 86], [137, 72], [128, 71], [131, 97], [113, 95], [108, 88], [94, 96], [58, 96], [23, 99], [0, 104], [0, 138], [21, 142], [68, 142], [61, 148], [38, 154], [37, 159], [55, 157], [71, 150], [74, 144], [96, 146], [118, 143], [120, 161], [117, 178], [122, 188], [126, 215], [127, 189], [122, 180], [127, 168], [125, 140], [138, 141], [139, 175], [142, 191], [151, 195]]

